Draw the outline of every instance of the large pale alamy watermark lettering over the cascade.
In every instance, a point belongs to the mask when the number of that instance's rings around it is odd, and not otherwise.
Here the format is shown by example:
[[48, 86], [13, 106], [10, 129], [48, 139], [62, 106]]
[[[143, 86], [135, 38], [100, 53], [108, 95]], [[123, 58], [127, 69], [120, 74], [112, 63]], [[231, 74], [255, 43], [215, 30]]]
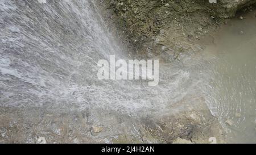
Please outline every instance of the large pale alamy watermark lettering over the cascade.
[[111, 55], [110, 63], [100, 60], [98, 67], [97, 76], [100, 80], [147, 80], [148, 86], [159, 83], [159, 60], [128, 60], [127, 63], [122, 59], [115, 61], [115, 56]]

